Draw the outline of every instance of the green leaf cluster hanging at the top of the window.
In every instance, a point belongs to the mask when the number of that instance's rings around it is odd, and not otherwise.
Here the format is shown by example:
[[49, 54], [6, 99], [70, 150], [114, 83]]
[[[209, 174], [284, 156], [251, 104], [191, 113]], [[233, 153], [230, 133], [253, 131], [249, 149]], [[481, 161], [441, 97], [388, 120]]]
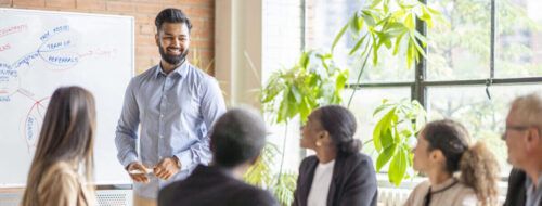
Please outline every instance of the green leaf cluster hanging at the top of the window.
[[[361, 59], [372, 57], [372, 64], [378, 64], [379, 50], [386, 48], [397, 55], [404, 47], [408, 68], [425, 56], [427, 39], [416, 30], [416, 17], [433, 26], [440, 13], [418, 1], [373, 0], [365, 8], [356, 12], [335, 37], [332, 52], [339, 40], [349, 31], [356, 46], [350, 55]], [[359, 80], [358, 80], [359, 81]]]

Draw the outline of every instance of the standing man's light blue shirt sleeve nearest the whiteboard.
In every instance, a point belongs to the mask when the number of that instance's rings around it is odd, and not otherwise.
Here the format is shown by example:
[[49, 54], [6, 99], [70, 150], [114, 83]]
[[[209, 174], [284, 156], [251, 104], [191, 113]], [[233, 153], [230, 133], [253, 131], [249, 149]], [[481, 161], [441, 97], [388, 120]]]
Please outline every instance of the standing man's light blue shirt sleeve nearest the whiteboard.
[[138, 160], [136, 143], [138, 140], [139, 108], [136, 99], [137, 79], [132, 79], [125, 93], [125, 103], [117, 125], [115, 145], [117, 158], [126, 168], [130, 163]]

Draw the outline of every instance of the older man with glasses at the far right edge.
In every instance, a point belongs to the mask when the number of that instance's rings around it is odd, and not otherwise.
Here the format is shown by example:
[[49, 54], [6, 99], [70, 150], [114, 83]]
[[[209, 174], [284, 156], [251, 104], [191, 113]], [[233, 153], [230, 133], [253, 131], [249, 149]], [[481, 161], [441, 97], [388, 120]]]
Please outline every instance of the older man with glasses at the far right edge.
[[505, 206], [542, 206], [542, 95], [519, 96], [506, 117], [503, 139], [508, 162], [515, 167], [508, 178]]

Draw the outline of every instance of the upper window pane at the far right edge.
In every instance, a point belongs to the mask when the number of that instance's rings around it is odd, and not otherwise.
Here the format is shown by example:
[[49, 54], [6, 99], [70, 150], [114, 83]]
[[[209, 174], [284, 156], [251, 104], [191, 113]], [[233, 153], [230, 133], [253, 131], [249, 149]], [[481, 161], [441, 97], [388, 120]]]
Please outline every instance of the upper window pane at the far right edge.
[[542, 76], [542, 2], [498, 0], [495, 76]]

